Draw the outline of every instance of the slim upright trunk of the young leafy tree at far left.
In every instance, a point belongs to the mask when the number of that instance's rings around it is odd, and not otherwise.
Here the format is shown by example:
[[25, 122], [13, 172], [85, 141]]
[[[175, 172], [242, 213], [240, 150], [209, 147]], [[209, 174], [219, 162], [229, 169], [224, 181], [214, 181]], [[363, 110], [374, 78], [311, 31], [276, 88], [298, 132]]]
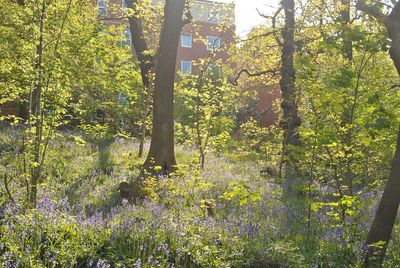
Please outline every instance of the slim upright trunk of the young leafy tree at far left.
[[36, 72], [37, 80], [32, 93], [31, 99], [31, 115], [33, 117], [35, 126], [35, 135], [33, 138], [34, 143], [34, 165], [31, 171], [31, 189], [29, 196], [29, 203], [31, 207], [36, 207], [36, 196], [37, 196], [37, 184], [41, 173], [41, 147], [42, 147], [42, 89], [43, 89], [43, 32], [44, 32], [44, 21], [46, 19], [46, 0], [43, 0], [41, 18], [39, 22], [39, 44], [37, 45], [37, 62]]

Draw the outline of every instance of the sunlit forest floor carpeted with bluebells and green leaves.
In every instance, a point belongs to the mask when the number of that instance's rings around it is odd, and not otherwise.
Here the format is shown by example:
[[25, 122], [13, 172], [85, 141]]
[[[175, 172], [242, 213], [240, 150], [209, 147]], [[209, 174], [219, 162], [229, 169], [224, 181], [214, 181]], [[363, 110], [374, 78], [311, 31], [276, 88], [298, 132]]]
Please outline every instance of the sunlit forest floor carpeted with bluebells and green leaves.
[[[2, 134], [1, 150], [7, 140]], [[8, 137], [8, 138], [7, 138]], [[99, 150], [100, 147], [102, 147]], [[140, 175], [138, 144], [85, 142], [70, 133], [52, 141], [36, 210], [1, 206], [2, 267], [355, 267], [378, 200], [369, 194], [339, 224], [334, 209], [311, 211], [298, 232], [286, 229], [280, 185], [246, 155], [178, 146], [176, 174], [147, 182], [145, 201], [127, 202], [119, 184]], [[4, 158], [3, 158], [4, 159]], [[246, 160], [247, 159], [247, 160]], [[17, 161], [16, 161], [17, 162]], [[14, 201], [26, 194], [18, 165], [1, 163]], [[4, 183], [1, 185], [4, 193]], [[2, 198], [5, 198], [4, 195]], [[321, 197], [323, 198], [323, 197]], [[365, 197], [364, 197], [365, 198]], [[400, 265], [400, 226], [388, 253]], [[389, 267], [389, 266], [388, 266]], [[398, 267], [398, 266], [397, 266]]]

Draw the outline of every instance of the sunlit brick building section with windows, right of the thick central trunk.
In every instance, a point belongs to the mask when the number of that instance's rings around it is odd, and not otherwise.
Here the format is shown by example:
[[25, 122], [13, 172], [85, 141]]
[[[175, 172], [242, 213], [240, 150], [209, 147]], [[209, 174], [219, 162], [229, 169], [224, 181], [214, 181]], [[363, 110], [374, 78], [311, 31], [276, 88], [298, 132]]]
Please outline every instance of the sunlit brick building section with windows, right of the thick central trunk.
[[[235, 5], [208, 0], [191, 4], [193, 22], [181, 33], [177, 71], [196, 73], [205, 65], [221, 73], [221, 63], [228, 61], [228, 49], [235, 33]], [[201, 63], [201, 59], [205, 62]]]

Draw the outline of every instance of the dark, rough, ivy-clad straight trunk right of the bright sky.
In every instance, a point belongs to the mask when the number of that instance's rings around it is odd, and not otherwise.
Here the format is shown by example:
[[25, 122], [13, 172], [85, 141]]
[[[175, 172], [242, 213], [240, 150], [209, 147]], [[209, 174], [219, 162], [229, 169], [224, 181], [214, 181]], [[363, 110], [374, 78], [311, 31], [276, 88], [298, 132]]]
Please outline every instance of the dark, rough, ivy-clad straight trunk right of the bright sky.
[[301, 184], [301, 178], [298, 170], [298, 161], [295, 147], [301, 145], [299, 127], [301, 119], [298, 115], [296, 73], [294, 68], [295, 54], [295, 3], [294, 0], [282, 0], [281, 2], [285, 12], [285, 26], [282, 30], [282, 55], [281, 55], [281, 80], [280, 87], [282, 91], [282, 121], [281, 127], [284, 130], [282, 163], [284, 163], [283, 194], [288, 200], [287, 206], [290, 210], [288, 215], [288, 225], [292, 225], [293, 215], [298, 218], [299, 202], [297, 200], [298, 190], [296, 186]]

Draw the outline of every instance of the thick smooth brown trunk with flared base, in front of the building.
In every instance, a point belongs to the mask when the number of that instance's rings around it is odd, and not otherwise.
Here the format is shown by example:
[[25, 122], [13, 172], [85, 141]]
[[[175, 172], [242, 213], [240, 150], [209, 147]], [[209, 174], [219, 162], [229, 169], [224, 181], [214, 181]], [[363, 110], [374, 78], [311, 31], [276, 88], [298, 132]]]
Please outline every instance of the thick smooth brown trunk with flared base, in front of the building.
[[167, 0], [164, 24], [156, 61], [156, 79], [153, 95], [153, 131], [150, 151], [144, 167], [161, 167], [164, 174], [175, 169], [174, 149], [174, 82], [179, 35], [185, 0]]

